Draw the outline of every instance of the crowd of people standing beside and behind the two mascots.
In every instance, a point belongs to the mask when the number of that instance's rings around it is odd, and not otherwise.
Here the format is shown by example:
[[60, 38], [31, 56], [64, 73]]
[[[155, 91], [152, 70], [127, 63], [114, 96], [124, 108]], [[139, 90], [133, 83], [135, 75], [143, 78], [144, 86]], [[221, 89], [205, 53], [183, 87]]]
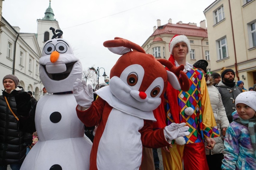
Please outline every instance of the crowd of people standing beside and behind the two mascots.
[[[256, 84], [247, 90], [243, 81], [235, 81], [233, 69], [222, 68], [220, 73], [207, 74], [206, 60], [198, 60], [193, 65], [188, 63], [186, 56], [190, 44], [184, 35], [175, 35], [169, 50], [169, 61], [176, 67], [184, 65], [183, 72], [190, 87], [187, 91], [176, 90], [168, 83], [159, 107], [153, 111], [157, 122], [153, 123], [152, 129], [184, 123], [190, 134], [173, 139], [170, 145], [161, 148], [164, 169], [256, 169]], [[166, 70], [169, 69], [166, 67]], [[108, 86], [110, 80], [106, 77], [99, 88]], [[20, 98], [15, 96], [24, 92], [18, 84], [19, 79], [15, 75], [3, 78], [0, 170], [7, 169], [8, 165], [19, 170], [34, 139], [31, 133], [20, 131], [18, 124], [19, 113], [32, 110], [37, 101], [28, 91], [29, 107], [17, 107], [16, 101]], [[50, 95], [47, 89], [42, 90], [40, 98]], [[98, 100], [97, 97], [94, 94], [93, 101]], [[96, 130], [97, 126], [85, 128], [85, 134], [92, 142]], [[142, 154], [142, 170], [159, 170], [157, 148], [153, 151], [148, 148]]]

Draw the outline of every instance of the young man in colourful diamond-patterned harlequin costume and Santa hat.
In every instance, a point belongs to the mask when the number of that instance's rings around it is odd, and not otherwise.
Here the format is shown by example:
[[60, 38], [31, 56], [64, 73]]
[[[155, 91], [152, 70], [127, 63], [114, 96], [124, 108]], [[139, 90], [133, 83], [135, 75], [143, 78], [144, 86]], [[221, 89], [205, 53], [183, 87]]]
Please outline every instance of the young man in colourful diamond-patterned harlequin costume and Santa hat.
[[206, 81], [202, 72], [186, 62], [187, 53], [190, 51], [186, 36], [175, 35], [169, 44], [169, 50], [171, 54], [169, 61], [175, 66], [181, 64], [185, 66], [183, 71], [190, 80], [190, 89], [184, 92], [167, 85], [165, 99], [162, 98], [160, 107], [154, 111], [158, 122], [155, 127], [166, 126], [165, 123], [169, 125], [185, 122], [190, 127], [191, 133], [184, 136], [185, 145], [178, 145], [178, 141], [177, 143], [173, 141], [172, 145], [162, 148], [164, 168], [182, 170], [183, 160], [184, 169], [207, 170], [204, 140], [208, 142], [207, 148], [213, 148], [215, 141], [212, 138], [218, 136], [218, 129], [212, 113]]

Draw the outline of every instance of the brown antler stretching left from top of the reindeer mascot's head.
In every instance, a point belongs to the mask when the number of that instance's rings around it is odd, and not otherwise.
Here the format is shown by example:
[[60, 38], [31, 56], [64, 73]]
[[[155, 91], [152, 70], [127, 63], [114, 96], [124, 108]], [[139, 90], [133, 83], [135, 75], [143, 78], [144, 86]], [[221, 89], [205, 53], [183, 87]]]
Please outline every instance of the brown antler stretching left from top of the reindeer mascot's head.
[[115, 37], [114, 40], [105, 41], [103, 42], [103, 45], [104, 47], [127, 47], [134, 49], [138, 52], [146, 53], [145, 50], [138, 44], [135, 44], [134, 42], [131, 42], [120, 37]]

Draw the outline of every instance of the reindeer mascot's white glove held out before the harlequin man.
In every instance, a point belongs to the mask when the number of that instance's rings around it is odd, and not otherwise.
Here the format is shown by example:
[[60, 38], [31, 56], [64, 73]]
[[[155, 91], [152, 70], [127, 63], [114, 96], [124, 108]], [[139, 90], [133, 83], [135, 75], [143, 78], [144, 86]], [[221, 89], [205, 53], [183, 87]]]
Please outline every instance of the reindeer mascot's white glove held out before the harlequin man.
[[166, 126], [163, 130], [166, 139], [172, 140], [180, 136], [189, 135], [190, 132], [187, 132], [189, 127], [185, 125], [186, 123], [172, 123], [171, 125]]

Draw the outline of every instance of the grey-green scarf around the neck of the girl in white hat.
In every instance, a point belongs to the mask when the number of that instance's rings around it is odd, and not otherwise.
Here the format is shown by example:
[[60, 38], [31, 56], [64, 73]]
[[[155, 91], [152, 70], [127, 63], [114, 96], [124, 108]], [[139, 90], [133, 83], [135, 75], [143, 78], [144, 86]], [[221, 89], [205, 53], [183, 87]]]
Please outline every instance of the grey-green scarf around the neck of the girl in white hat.
[[236, 120], [236, 122], [248, 127], [248, 131], [250, 134], [250, 138], [251, 138], [251, 144], [254, 150], [254, 155], [256, 157], [256, 142], [255, 142], [255, 138], [256, 138], [256, 117], [252, 117], [251, 119], [248, 120], [244, 120], [240, 117], [238, 117]]

